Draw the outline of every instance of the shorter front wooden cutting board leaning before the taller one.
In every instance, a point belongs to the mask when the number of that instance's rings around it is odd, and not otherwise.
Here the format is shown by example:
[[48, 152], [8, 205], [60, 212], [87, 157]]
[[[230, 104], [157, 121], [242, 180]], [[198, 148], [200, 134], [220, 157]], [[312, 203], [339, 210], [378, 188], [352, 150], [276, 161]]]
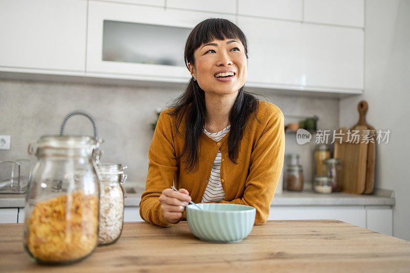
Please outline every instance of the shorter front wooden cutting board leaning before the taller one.
[[358, 137], [354, 138], [354, 141], [347, 128], [336, 130], [341, 139], [335, 140], [334, 157], [339, 158], [342, 165], [342, 192], [362, 194], [366, 185], [368, 148], [368, 143], [363, 141], [363, 134], [367, 128], [364, 125], [357, 125], [355, 130], [358, 130]]

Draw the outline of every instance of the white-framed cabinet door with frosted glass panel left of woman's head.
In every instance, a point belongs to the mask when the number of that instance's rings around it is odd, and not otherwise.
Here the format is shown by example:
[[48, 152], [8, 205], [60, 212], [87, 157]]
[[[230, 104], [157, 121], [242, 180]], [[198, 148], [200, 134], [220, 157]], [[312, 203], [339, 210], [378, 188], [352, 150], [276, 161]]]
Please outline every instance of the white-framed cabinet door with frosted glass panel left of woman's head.
[[187, 81], [190, 73], [183, 63], [185, 41], [197, 23], [213, 16], [235, 19], [205, 12], [90, 1], [86, 73]]

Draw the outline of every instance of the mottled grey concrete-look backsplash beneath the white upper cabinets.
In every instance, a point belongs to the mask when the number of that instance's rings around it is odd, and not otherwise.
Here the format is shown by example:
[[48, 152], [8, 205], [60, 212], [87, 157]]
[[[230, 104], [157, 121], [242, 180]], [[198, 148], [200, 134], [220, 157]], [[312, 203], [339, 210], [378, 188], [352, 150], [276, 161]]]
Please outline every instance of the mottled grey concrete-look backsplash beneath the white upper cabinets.
[[[0, 135], [11, 135], [11, 150], [0, 151], [0, 160], [27, 158], [27, 146], [46, 134], [57, 135], [65, 115], [82, 109], [97, 120], [99, 137], [105, 140], [101, 161], [129, 166], [129, 181], [145, 185], [148, 149], [153, 132], [150, 123], [157, 108], [166, 106], [181, 90], [87, 85], [65, 82], [0, 80]], [[264, 94], [286, 115], [319, 116], [318, 127], [335, 129], [339, 123], [337, 99]], [[285, 118], [286, 122], [295, 121]], [[87, 118], [74, 116], [66, 134], [92, 134]], [[305, 187], [311, 187], [314, 141], [298, 145], [295, 134], [286, 134], [285, 153], [301, 154]], [[31, 157], [35, 160], [35, 157]], [[280, 190], [278, 191], [280, 192]]]

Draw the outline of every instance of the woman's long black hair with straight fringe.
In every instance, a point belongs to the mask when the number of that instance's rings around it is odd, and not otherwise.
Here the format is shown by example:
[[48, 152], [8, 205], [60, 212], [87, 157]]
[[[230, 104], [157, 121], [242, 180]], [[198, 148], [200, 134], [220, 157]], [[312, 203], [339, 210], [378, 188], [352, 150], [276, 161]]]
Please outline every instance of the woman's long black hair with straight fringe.
[[[201, 45], [207, 44], [212, 40], [239, 39], [244, 47], [244, 53], [248, 59], [248, 45], [245, 34], [238, 26], [230, 20], [222, 18], [209, 18], [203, 20], [191, 31], [185, 45], [185, 65], [188, 63], [195, 65], [194, 52]], [[189, 68], [188, 68], [189, 69]], [[250, 92], [244, 91], [242, 86], [236, 97], [236, 100], [229, 113], [231, 129], [228, 136], [229, 158], [236, 164], [240, 151], [240, 140], [243, 137], [243, 131], [248, 123], [249, 117], [254, 113], [259, 100]], [[180, 136], [185, 133], [185, 143], [183, 144], [181, 155], [175, 159], [183, 158], [188, 172], [193, 171], [198, 163], [198, 140], [201, 135], [203, 124], [206, 120], [206, 106], [204, 91], [199, 87], [198, 82], [191, 77], [185, 92], [176, 98], [172, 104], [170, 115], [176, 116], [175, 128]], [[180, 132], [179, 126], [182, 117], [186, 116], [186, 132]]]

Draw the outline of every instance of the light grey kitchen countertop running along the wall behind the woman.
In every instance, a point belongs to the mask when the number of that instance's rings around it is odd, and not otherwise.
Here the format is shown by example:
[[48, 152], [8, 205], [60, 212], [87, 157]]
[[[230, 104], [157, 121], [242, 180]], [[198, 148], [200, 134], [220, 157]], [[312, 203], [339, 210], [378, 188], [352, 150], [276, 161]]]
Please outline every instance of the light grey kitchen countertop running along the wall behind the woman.
[[[125, 206], [139, 206], [144, 188], [127, 183], [127, 198]], [[391, 190], [375, 189], [371, 195], [332, 193], [320, 194], [313, 191], [288, 192], [276, 194], [271, 206], [393, 206], [394, 192]], [[1, 207], [24, 207], [25, 195], [0, 194]]]

